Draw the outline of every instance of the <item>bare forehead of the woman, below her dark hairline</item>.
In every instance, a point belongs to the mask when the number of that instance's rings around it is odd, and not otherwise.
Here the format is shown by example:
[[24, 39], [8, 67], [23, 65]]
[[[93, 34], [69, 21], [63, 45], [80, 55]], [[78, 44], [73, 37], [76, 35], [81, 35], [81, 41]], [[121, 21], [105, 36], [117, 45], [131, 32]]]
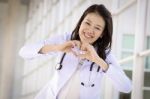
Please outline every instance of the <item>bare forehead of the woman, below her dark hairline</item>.
[[90, 21], [96, 25], [105, 26], [105, 21], [102, 16], [97, 13], [89, 13], [85, 16], [84, 20]]

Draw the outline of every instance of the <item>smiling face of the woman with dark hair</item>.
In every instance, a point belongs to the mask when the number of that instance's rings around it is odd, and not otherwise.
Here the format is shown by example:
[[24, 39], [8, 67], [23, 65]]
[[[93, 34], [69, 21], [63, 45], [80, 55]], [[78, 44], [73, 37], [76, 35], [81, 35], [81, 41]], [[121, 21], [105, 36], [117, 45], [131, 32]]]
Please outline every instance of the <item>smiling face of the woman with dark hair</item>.
[[94, 43], [99, 37], [105, 27], [105, 21], [102, 16], [97, 13], [89, 13], [83, 19], [79, 28], [79, 37], [81, 42]]

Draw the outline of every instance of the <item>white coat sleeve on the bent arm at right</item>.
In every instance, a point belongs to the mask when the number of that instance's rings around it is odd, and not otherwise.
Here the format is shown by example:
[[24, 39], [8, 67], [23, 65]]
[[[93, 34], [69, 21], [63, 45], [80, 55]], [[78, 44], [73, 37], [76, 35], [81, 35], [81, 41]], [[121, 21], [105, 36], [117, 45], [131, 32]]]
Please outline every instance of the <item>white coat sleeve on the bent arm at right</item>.
[[113, 85], [120, 92], [129, 93], [132, 89], [131, 80], [126, 76], [125, 72], [111, 52], [107, 56], [106, 62], [109, 64], [109, 68], [105, 75], [112, 80]]

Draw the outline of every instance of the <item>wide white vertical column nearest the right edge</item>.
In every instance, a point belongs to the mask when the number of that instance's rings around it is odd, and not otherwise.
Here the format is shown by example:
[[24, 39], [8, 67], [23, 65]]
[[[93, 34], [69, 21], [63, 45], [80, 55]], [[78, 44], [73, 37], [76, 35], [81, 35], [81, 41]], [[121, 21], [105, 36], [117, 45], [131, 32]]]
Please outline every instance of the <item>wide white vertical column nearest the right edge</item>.
[[147, 0], [137, 0], [132, 99], [143, 99], [144, 60], [138, 53], [144, 50]]

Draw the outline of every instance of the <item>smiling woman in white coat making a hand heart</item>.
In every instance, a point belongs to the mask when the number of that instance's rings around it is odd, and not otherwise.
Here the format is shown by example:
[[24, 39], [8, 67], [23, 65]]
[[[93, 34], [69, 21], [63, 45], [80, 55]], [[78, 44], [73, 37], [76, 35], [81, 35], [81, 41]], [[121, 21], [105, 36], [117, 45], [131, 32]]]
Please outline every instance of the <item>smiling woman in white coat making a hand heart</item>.
[[101, 79], [108, 76], [116, 89], [128, 93], [131, 82], [111, 53], [112, 16], [94, 4], [81, 16], [72, 33], [56, 36], [20, 50], [24, 58], [63, 52], [52, 80], [36, 99], [101, 99]]

